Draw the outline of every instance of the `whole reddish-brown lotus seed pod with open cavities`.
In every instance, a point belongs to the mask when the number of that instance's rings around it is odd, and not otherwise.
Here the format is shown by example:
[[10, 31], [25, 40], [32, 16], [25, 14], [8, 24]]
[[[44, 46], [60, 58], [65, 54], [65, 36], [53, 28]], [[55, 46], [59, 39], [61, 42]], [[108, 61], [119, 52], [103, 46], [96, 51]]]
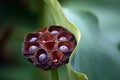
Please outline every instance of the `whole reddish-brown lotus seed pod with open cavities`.
[[37, 67], [49, 70], [69, 61], [76, 45], [72, 33], [61, 26], [47, 28], [29, 33], [23, 42], [24, 57]]

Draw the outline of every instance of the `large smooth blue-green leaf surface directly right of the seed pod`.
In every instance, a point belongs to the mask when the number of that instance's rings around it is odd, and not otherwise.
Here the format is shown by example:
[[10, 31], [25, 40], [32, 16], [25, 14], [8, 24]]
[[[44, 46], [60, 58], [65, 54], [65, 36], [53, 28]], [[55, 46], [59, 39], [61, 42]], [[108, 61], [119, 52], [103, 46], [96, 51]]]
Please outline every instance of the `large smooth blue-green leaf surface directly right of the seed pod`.
[[[72, 68], [87, 74], [89, 80], [119, 80], [120, 51], [101, 33], [97, 17], [90, 12], [75, 10], [75, 7], [71, 11], [64, 8], [64, 12], [79, 27], [82, 35], [77, 53], [70, 63]], [[114, 22], [106, 24], [113, 25]], [[115, 31], [113, 29], [111, 33]]]

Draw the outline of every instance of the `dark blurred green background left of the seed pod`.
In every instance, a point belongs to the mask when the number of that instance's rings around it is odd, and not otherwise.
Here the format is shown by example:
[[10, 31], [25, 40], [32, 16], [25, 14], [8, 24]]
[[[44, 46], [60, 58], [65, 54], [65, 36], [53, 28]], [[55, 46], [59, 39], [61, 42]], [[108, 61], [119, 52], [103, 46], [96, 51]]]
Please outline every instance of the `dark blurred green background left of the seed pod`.
[[43, 0], [0, 0], [0, 80], [51, 80], [21, 54], [25, 35], [48, 26], [44, 9]]

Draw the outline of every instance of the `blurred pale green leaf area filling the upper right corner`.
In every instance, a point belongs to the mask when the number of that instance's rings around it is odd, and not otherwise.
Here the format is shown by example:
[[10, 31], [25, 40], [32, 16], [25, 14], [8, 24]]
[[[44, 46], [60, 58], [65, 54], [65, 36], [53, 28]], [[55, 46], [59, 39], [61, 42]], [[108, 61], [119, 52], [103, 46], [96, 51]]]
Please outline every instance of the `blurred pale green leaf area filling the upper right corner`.
[[119, 0], [70, 0], [63, 4], [65, 7], [76, 11], [84, 10], [93, 12], [98, 20], [101, 32], [118, 47], [120, 44], [120, 1]]

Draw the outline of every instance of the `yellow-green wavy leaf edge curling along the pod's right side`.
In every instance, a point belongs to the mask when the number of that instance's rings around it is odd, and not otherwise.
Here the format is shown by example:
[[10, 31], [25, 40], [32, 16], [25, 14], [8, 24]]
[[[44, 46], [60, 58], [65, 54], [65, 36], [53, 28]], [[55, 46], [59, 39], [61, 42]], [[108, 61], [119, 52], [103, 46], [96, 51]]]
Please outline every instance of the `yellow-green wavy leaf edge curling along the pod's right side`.
[[[45, 0], [45, 2], [49, 5], [49, 8], [54, 17], [56, 25], [61, 25], [64, 28], [66, 28], [67, 30], [69, 30], [71, 33], [73, 33], [77, 40], [77, 45], [78, 45], [78, 43], [80, 41], [80, 37], [81, 37], [80, 30], [75, 25], [73, 25], [69, 20], [67, 20], [67, 18], [64, 16], [64, 14], [61, 10], [60, 4], [57, 2], [57, 0]], [[75, 54], [74, 51], [73, 51], [72, 55], [70, 56], [70, 61]], [[85, 74], [74, 71], [71, 68], [70, 64], [68, 64], [68, 69], [70, 69], [69, 71], [70, 71], [70, 75], [72, 76], [71, 77], [72, 80], [78, 80], [78, 79], [87, 80], [87, 77]]]

